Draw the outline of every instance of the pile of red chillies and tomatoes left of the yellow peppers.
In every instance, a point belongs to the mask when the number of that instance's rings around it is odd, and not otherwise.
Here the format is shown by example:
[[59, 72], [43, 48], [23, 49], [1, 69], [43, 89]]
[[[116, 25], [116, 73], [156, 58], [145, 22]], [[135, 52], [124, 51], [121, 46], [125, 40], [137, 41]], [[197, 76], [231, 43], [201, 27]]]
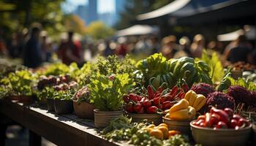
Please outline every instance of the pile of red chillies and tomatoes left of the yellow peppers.
[[183, 99], [188, 91], [187, 85], [184, 84], [181, 88], [174, 86], [171, 90], [164, 90], [160, 86], [157, 91], [154, 91], [151, 85], [146, 89], [146, 96], [129, 93], [123, 96], [124, 110], [129, 113], [138, 114], [156, 114], [164, 110], [169, 110], [178, 100]]

